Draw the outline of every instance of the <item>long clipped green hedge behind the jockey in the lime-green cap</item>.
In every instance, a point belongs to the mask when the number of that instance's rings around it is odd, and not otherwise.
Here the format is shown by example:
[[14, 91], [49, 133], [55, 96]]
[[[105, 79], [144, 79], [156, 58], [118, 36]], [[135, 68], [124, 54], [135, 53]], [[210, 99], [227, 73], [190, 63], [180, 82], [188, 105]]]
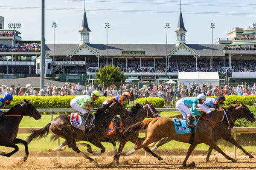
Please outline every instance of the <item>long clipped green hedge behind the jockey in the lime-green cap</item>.
[[[70, 101], [76, 96], [13, 96], [13, 101], [10, 105], [5, 105], [3, 108], [12, 108], [23, 99], [26, 99], [35, 106], [35, 108], [71, 108]], [[98, 100], [93, 101], [92, 107], [99, 108], [102, 102], [105, 101], [107, 97], [99, 97]], [[127, 102], [122, 103], [126, 107]]]

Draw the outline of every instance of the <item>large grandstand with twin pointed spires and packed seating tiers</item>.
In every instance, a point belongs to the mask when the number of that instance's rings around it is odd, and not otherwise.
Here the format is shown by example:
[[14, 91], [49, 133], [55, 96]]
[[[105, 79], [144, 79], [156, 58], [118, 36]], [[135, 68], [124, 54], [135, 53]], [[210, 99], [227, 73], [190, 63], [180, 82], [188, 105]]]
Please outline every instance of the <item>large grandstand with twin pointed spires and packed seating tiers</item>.
[[[119, 66], [127, 78], [141, 81], [177, 79], [177, 72], [211, 71], [212, 57], [212, 71], [220, 75], [233, 71], [255, 72], [255, 31], [256, 28], [234, 28], [228, 31], [227, 38], [216, 39], [213, 47], [211, 44], [186, 44], [187, 31], [180, 12], [176, 44], [167, 45], [167, 62], [166, 44], [108, 44], [108, 65]], [[61, 81], [86, 79], [90, 82], [95, 79], [94, 73], [106, 65], [107, 45], [90, 44], [91, 31], [85, 12], [79, 32], [80, 44], [55, 44], [55, 61], [54, 45], [46, 44], [47, 76], [59, 77]], [[20, 34], [17, 30], [0, 29], [0, 75], [3, 78], [40, 75], [40, 41], [24, 41]]]

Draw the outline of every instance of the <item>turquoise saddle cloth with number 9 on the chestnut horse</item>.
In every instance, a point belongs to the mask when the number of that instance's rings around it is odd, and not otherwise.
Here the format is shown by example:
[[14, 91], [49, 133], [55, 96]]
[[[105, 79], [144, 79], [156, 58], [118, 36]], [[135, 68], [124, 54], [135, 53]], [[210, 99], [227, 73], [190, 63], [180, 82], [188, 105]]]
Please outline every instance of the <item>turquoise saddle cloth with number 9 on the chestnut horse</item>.
[[[173, 118], [176, 134], [191, 133], [191, 128], [186, 127], [186, 122], [187, 122], [186, 119]], [[193, 124], [196, 125], [196, 119], [194, 119]], [[195, 130], [196, 128], [197, 128], [197, 125], [195, 126]]]

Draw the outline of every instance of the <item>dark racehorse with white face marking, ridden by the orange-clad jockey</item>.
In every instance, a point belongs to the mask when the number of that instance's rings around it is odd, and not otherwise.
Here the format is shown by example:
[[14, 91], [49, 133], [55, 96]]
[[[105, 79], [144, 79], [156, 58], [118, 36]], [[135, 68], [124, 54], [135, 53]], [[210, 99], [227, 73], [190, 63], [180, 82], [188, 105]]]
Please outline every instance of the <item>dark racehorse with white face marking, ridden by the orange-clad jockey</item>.
[[[136, 105], [131, 108], [130, 116], [131, 117], [128, 119], [122, 118], [122, 125], [123, 125], [122, 128], [126, 128], [131, 125], [134, 125], [137, 122], [143, 121], [146, 117], [147, 118], [160, 117], [160, 114], [157, 112], [157, 110], [154, 108], [154, 106], [151, 103], [146, 102], [144, 106], [142, 106], [140, 103], [136, 103]], [[116, 142], [112, 143], [114, 147], [114, 153], [115, 153], [114, 161], [116, 161], [116, 163], [119, 162], [120, 155], [118, 153], [122, 153], [122, 149], [125, 146], [125, 144], [128, 141], [135, 143], [138, 136], [139, 136], [139, 133], [134, 133], [128, 138], [126, 138], [125, 140], [121, 141], [119, 144], [118, 152], [116, 150]], [[107, 136], [107, 138], [110, 138], [113, 141], [118, 141], [119, 137], [120, 137], [120, 133], [111, 134]], [[108, 141], [108, 139], [105, 138], [103, 139], [102, 142], [106, 142], [106, 141]], [[86, 143], [79, 143], [79, 144], [76, 144], [76, 146], [87, 146], [87, 148], [88, 147], [90, 148], [90, 145]], [[63, 145], [63, 147], [56, 147], [54, 149], [49, 149], [48, 151], [51, 151], [51, 152], [62, 151], [62, 150], [65, 150], [66, 147], [67, 145]], [[157, 156], [154, 152], [152, 152], [148, 147], [145, 147], [144, 149], [150, 152], [153, 156], [157, 157], [158, 159], [160, 160], [162, 159], [161, 157]]]

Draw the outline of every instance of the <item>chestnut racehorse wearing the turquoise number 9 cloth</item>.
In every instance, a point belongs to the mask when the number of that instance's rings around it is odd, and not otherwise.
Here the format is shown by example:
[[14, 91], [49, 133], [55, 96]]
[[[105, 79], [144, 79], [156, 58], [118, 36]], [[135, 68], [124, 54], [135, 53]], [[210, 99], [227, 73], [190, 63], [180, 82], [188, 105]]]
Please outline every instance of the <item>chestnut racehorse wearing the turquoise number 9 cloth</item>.
[[[234, 126], [231, 116], [223, 109], [213, 111], [212, 113], [209, 113], [198, 120], [198, 126], [195, 131], [195, 138], [193, 143], [189, 146], [189, 150], [186, 153], [186, 158], [183, 161], [183, 166], [186, 166], [186, 161], [189, 158], [190, 154], [200, 143], [205, 143], [213, 147], [226, 159], [232, 160], [232, 162], [236, 161], [236, 159], [227, 156], [227, 154], [225, 154], [212, 139], [212, 128], [215, 127], [218, 122], [224, 122], [225, 124], [228, 124], [231, 128]], [[131, 133], [137, 133], [138, 131], [143, 129], [147, 129], [146, 137], [138, 138], [136, 146], [131, 151], [125, 153], [125, 155], [128, 156], [132, 154], [135, 150], [145, 147], [152, 142], [157, 142], [165, 137], [169, 137], [170, 139], [185, 143], [188, 143], [190, 139], [190, 133], [179, 135], [175, 133], [175, 125], [172, 118], [159, 117], [148, 119], [142, 122], [137, 122], [135, 125], [128, 127], [126, 130], [123, 131], [120, 137], [120, 141], [125, 140], [125, 138]]]

